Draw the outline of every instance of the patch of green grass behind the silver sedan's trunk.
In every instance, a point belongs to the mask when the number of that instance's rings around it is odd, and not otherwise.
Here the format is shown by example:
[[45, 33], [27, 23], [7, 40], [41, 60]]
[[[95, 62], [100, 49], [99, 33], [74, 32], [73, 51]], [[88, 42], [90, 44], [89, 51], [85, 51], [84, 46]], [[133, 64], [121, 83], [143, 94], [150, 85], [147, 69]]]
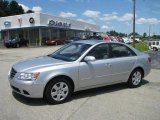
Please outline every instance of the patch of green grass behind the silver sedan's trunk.
[[[133, 43], [130, 45], [133, 46]], [[149, 50], [149, 46], [148, 46], [147, 42], [145, 42], [145, 41], [135, 43], [135, 48], [141, 52]]]

